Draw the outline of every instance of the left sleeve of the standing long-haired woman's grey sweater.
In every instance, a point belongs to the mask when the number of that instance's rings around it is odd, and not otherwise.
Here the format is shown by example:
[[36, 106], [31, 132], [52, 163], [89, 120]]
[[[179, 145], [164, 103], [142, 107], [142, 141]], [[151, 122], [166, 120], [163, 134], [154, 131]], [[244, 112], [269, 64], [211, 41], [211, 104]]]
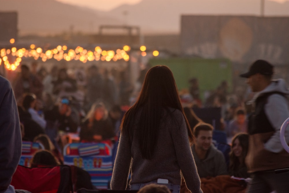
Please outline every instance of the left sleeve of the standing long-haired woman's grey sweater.
[[121, 134], [110, 183], [112, 190], [126, 190], [131, 162], [129, 137]]

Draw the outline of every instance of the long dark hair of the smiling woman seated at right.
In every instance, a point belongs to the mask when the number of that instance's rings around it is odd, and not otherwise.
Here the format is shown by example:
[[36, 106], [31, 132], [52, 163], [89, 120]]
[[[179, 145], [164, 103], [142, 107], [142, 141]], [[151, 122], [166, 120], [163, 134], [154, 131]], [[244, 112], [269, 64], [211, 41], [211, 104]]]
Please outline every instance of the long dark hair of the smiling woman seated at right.
[[[240, 145], [242, 147], [241, 153], [241, 162], [239, 158], [235, 156], [233, 152], [233, 146], [236, 139], [239, 139]], [[232, 148], [230, 152], [230, 162], [229, 162], [229, 169], [232, 171], [238, 170], [239, 167], [245, 166], [245, 158], [248, 153], [248, 146], [249, 146], [249, 135], [247, 133], [238, 133], [232, 139]]]

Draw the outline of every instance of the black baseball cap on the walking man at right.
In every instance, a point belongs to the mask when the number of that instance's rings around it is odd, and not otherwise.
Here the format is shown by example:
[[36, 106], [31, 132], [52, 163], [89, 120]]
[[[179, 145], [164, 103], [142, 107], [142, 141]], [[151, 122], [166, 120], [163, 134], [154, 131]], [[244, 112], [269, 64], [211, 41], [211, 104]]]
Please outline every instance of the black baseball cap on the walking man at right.
[[266, 60], [256, 60], [250, 67], [249, 72], [240, 74], [243, 78], [249, 78], [250, 76], [260, 73], [262, 75], [272, 75], [273, 65]]

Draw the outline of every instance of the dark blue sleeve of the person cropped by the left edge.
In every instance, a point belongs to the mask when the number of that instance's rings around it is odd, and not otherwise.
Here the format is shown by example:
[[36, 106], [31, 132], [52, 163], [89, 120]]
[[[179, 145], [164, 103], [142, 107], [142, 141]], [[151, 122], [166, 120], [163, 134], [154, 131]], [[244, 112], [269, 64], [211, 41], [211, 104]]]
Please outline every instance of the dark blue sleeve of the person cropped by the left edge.
[[0, 76], [0, 193], [11, 183], [21, 156], [21, 131], [14, 93]]

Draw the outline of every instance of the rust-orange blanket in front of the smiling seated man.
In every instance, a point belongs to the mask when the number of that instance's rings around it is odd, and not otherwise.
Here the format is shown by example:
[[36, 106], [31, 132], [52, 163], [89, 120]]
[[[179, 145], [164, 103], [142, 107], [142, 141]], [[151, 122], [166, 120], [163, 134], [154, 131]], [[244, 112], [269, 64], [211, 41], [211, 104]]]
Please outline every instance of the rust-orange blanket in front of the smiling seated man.
[[[201, 189], [204, 193], [245, 193], [246, 187], [240, 181], [231, 179], [229, 175], [214, 178], [201, 178]], [[189, 193], [184, 181], [180, 193]]]

